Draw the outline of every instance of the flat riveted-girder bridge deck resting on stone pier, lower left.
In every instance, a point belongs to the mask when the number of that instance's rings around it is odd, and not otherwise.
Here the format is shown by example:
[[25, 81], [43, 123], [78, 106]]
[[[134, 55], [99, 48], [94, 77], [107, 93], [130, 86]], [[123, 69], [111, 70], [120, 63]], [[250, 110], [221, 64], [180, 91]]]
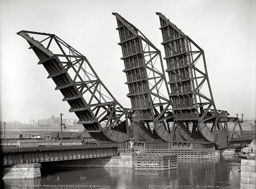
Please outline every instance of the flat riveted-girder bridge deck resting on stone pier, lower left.
[[2, 148], [2, 165], [41, 163], [50, 161], [112, 157], [117, 155], [117, 146], [39, 146]]

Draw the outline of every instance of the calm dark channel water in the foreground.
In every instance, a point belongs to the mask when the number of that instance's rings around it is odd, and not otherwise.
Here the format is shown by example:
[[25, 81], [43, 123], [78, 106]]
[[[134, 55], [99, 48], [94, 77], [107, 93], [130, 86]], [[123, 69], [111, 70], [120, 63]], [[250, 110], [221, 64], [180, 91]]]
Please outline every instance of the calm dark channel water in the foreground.
[[[4, 180], [6, 189], [240, 189], [241, 159], [179, 161], [169, 171], [132, 168], [42, 170], [38, 179]], [[47, 172], [47, 173], [45, 173]]]

